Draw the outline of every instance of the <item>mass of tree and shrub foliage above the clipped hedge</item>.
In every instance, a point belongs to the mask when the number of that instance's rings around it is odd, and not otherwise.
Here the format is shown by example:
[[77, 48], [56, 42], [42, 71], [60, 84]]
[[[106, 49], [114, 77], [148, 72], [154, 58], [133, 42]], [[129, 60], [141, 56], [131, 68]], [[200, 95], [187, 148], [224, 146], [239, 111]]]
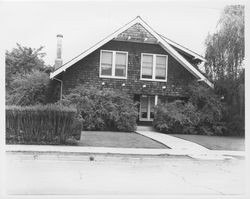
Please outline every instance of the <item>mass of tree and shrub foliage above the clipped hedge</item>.
[[[53, 101], [55, 85], [49, 80], [51, 66], [45, 65], [43, 47], [17, 44], [5, 53], [6, 102], [14, 105], [46, 104]], [[51, 97], [50, 97], [51, 96]]]

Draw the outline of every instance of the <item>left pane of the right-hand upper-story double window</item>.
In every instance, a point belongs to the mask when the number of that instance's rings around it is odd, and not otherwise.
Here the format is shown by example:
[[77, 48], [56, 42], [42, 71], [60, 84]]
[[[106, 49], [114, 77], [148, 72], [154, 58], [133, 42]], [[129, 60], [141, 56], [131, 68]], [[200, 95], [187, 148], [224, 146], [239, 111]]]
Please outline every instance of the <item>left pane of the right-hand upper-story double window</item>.
[[142, 56], [142, 78], [152, 79], [153, 76], [153, 55]]

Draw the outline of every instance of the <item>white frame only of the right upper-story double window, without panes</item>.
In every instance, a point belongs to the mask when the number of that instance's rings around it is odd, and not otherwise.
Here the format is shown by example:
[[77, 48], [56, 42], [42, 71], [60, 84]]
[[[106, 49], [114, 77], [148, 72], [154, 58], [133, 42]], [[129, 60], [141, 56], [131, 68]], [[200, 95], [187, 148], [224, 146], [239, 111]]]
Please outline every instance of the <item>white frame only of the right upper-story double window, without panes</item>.
[[[151, 55], [153, 56], [153, 75], [152, 79], [149, 78], [143, 78], [142, 77], [142, 63], [143, 63], [143, 55]], [[156, 79], [155, 78], [155, 71], [156, 71], [156, 56], [162, 56], [166, 57], [166, 79]], [[157, 82], [167, 82], [168, 80], [168, 55], [162, 55], [162, 54], [151, 54], [151, 53], [141, 53], [141, 76], [140, 80], [145, 80], [145, 81], [157, 81]]]

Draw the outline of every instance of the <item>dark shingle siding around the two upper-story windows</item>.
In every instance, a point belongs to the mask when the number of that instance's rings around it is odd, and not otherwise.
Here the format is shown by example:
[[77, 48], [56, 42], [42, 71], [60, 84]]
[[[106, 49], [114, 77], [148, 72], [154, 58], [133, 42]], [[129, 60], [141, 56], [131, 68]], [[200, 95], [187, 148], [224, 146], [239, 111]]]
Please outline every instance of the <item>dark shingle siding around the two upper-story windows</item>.
[[[100, 50], [114, 50], [128, 52], [128, 74], [127, 79], [100, 78]], [[140, 80], [141, 53], [168, 55], [167, 82], [153, 82]], [[112, 40], [97, 49], [81, 61], [77, 62], [61, 76], [63, 80], [63, 94], [70, 89], [85, 85], [98, 88], [112, 88], [133, 94], [163, 95], [163, 96], [185, 96], [183, 88], [194, 79], [183, 66], [170, 56], [158, 44], [135, 43]], [[102, 86], [102, 82], [105, 85]], [[125, 83], [123, 87], [122, 84]], [[146, 88], [142, 86], [146, 85]], [[162, 89], [166, 86], [166, 89]]]

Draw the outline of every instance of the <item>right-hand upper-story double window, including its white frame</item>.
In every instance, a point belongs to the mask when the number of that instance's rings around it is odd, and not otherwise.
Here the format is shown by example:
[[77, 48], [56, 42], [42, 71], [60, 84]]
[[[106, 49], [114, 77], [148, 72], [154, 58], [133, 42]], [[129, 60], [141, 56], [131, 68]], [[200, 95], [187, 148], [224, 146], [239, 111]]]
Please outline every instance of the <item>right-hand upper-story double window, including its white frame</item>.
[[143, 53], [141, 56], [141, 79], [153, 81], [167, 80], [167, 55]]

